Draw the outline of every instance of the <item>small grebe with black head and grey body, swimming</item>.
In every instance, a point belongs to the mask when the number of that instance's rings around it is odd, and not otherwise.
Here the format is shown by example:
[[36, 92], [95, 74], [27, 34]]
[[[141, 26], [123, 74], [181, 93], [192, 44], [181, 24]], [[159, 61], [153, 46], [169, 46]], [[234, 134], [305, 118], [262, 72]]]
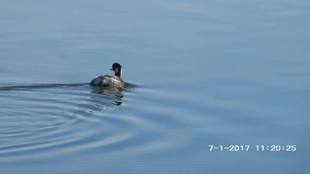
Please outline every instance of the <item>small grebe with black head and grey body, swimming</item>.
[[100, 87], [124, 87], [124, 81], [121, 79], [122, 66], [118, 63], [113, 63], [111, 70], [115, 72], [115, 75], [99, 75], [92, 80], [91, 85]]

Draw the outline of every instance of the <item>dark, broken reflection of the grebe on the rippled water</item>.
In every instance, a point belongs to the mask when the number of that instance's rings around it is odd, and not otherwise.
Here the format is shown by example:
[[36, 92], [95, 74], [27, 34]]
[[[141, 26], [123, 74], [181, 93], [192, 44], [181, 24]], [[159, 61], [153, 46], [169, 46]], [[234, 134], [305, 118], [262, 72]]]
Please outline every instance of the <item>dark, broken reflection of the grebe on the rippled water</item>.
[[114, 87], [114, 88], [107, 88], [107, 87], [93, 87], [93, 93], [97, 93], [97, 94], [102, 94], [104, 96], [107, 96], [107, 99], [103, 99], [103, 98], [95, 98], [101, 101], [106, 101], [109, 102], [111, 104], [115, 104], [115, 105], [121, 105], [122, 102], [118, 102], [118, 101], [111, 101], [111, 98], [117, 99], [117, 100], [122, 100], [122, 98], [124, 97], [121, 92], [123, 91], [122, 87]]

